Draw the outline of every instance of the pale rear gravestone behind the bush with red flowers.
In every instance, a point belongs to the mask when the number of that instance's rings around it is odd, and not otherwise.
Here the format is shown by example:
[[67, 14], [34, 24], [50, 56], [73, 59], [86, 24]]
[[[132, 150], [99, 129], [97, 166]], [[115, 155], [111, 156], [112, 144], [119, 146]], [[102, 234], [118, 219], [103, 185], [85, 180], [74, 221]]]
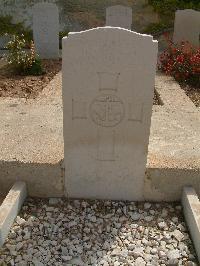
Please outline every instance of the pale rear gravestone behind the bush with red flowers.
[[177, 10], [174, 22], [174, 43], [188, 41], [199, 46], [200, 12], [192, 9]]

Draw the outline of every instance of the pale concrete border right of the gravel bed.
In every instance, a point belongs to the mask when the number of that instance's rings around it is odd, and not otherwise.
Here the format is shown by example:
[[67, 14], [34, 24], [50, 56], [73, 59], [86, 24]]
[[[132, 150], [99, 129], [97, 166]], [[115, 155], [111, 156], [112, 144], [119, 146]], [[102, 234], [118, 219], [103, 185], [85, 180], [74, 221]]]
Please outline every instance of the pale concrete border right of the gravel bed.
[[200, 201], [192, 187], [184, 187], [182, 205], [186, 223], [200, 262]]

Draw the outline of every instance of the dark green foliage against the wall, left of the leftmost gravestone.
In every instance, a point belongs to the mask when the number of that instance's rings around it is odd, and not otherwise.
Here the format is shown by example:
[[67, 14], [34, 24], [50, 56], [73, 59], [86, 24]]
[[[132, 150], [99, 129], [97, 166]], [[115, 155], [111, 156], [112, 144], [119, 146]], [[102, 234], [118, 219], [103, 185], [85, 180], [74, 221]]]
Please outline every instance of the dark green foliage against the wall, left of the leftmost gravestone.
[[25, 28], [23, 22], [12, 23], [12, 16], [0, 16], [0, 36], [1, 35], [21, 35], [23, 34], [26, 46], [30, 46], [33, 40], [33, 32], [29, 28]]

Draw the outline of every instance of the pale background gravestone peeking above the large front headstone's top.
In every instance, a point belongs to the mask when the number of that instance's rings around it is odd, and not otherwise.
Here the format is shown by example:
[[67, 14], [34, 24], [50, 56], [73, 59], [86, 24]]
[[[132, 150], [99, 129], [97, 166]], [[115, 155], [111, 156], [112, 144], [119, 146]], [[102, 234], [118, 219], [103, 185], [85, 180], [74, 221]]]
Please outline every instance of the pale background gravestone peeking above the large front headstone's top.
[[106, 8], [106, 26], [131, 29], [132, 8], [126, 6], [110, 6]]

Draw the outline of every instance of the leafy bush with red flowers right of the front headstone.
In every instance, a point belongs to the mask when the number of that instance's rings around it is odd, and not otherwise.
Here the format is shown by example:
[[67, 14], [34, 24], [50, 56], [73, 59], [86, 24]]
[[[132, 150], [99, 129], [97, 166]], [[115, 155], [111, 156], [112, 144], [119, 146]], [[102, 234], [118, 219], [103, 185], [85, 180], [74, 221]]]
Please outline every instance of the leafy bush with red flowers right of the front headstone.
[[200, 88], [200, 48], [189, 42], [174, 44], [168, 37], [168, 48], [160, 55], [159, 68], [177, 81]]

